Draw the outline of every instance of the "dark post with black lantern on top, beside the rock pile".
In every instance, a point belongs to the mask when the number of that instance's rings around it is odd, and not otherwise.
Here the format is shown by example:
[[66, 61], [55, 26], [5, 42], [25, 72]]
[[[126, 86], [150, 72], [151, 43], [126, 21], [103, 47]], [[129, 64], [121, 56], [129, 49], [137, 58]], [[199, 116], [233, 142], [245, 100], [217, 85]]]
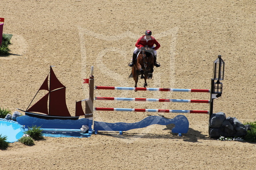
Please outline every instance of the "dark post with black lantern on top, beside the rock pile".
[[[222, 94], [222, 83], [220, 80], [224, 79], [225, 62], [221, 59], [221, 55], [213, 62], [213, 78], [211, 79], [211, 93], [210, 93], [210, 111], [209, 119], [213, 113], [213, 99], [217, 99]], [[215, 82], [215, 80], [217, 80]], [[210, 126], [209, 126], [210, 133]], [[210, 135], [210, 134], [209, 134]]]

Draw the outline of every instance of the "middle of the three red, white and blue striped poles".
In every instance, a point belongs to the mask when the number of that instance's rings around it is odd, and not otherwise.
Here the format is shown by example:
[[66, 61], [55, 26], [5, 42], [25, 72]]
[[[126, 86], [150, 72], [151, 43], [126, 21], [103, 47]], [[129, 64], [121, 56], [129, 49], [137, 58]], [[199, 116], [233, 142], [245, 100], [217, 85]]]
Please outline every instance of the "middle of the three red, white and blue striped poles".
[[141, 102], [180, 102], [180, 103], [210, 103], [209, 100], [180, 100], [180, 99], [145, 99], [145, 98], [118, 98], [118, 97], [95, 97], [95, 100], [111, 101], [141, 101]]

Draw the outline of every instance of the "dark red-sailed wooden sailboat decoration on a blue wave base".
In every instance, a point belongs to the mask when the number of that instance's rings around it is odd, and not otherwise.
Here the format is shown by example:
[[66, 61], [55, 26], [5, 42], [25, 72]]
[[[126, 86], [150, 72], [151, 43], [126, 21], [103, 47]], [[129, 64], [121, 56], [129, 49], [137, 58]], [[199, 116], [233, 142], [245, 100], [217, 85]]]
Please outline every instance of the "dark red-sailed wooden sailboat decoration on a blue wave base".
[[[48, 87], [48, 77], [50, 74], [50, 83]], [[27, 110], [21, 110], [24, 111], [26, 115], [31, 117], [37, 117], [41, 119], [67, 119], [67, 120], [77, 120], [79, 116], [84, 116], [84, 112], [82, 109], [81, 102], [84, 101], [78, 101], [76, 102], [75, 106], [75, 116], [71, 116], [66, 105], [66, 97], [65, 97], [65, 90], [66, 87], [58, 80], [56, 75], [53, 72], [52, 66], [50, 67], [50, 73], [49, 73], [39, 88], [38, 92], [40, 90], [47, 90], [48, 93], [42, 97], [37, 103], [35, 103], [33, 106], [29, 107], [32, 103], [32, 101], [35, 99], [36, 93], [34, 99], [31, 101], [30, 105], [28, 106]], [[40, 112], [40, 113], [34, 113], [34, 112]]]

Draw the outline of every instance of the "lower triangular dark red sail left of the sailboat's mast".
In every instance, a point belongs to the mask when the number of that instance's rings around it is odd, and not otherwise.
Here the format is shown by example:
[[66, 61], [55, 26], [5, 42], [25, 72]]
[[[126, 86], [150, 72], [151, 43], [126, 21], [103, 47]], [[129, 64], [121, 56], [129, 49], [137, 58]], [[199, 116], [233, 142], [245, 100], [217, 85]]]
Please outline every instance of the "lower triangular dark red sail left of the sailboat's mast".
[[35, 111], [35, 112], [48, 114], [48, 96], [49, 96], [49, 93], [47, 93], [42, 99], [40, 99], [37, 103], [35, 103], [26, 111], [28, 112]]

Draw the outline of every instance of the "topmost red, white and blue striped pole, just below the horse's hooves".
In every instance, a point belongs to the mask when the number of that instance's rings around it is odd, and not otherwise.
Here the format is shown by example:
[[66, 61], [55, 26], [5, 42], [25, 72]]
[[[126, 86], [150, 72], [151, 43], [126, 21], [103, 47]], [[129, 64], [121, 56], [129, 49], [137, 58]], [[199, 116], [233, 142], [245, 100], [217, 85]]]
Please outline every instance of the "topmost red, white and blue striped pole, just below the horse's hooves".
[[165, 92], [206, 92], [210, 90], [205, 89], [165, 89], [165, 88], [143, 88], [143, 87], [107, 87], [107, 86], [95, 86], [95, 89], [104, 90], [138, 90], [138, 91], [165, 91]]

